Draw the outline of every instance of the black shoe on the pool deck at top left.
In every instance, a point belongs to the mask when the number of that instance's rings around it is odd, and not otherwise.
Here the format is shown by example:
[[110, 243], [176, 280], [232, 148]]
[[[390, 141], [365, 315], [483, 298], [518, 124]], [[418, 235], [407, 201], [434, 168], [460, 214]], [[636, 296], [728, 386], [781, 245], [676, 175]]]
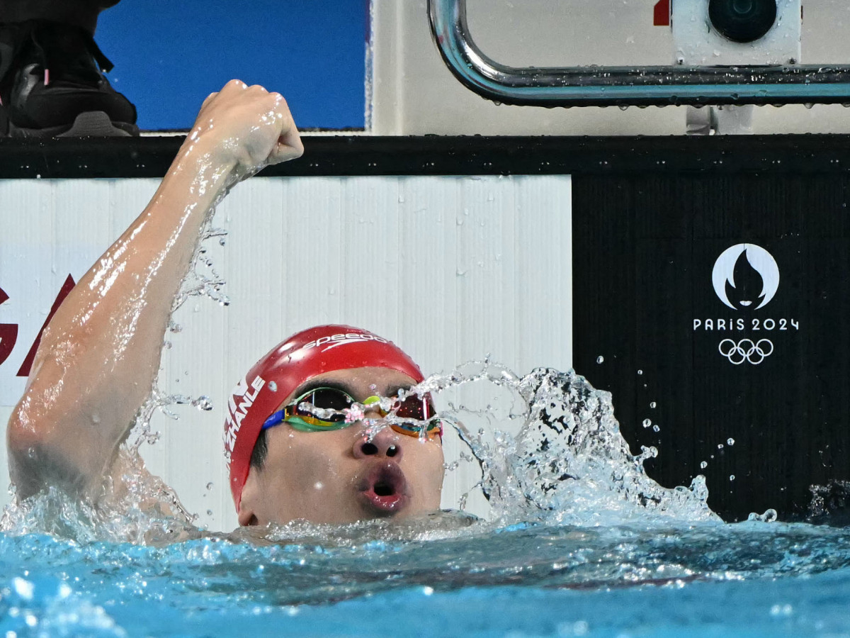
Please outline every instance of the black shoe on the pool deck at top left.
[[0, 134], [138, 135], [135, 106], [103, 75], [111, 69], [84, 29], [44, 20], [0, 25]]

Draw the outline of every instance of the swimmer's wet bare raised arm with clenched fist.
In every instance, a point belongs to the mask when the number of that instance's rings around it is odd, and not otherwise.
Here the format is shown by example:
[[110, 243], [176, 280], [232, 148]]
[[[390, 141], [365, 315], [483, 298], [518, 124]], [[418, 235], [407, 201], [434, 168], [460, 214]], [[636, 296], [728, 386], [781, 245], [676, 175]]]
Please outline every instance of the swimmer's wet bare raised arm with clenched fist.
[[303, 152], [286, 102], [233, 81], [201, 106], [144, 212], [82, 277], [42, 335], [8, 424], [23, 497], [99, 487], [156, 379], [163, 334], [207, 214], [236, 179]]

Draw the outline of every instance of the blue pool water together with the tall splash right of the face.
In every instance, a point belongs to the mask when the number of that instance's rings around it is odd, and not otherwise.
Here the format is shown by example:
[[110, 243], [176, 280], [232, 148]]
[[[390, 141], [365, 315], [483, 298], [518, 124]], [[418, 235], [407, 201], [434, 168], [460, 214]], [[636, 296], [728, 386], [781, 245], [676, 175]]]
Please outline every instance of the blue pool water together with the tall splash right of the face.
[[507, 393], [447, 410], [487, 520], [218, 534], [51, 493], [4, 517], [0, 636], [850, 635], [850, 528], [723, 523], [700, 477], [651, 481], [657, 451], [633, 456], [573, 373], [483, 362], [425, 383]]

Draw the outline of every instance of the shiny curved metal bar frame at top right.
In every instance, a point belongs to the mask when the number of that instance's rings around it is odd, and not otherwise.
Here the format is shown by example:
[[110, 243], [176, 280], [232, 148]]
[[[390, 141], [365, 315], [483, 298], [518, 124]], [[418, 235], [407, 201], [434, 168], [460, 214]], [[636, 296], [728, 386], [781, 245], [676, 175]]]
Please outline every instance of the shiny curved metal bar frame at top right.
[[474, 43], [466, 0], [428, 0], [431, 34], [446, 66], [475, 93], [536, 106], [850, 105], [850, 66], [503, 65]]

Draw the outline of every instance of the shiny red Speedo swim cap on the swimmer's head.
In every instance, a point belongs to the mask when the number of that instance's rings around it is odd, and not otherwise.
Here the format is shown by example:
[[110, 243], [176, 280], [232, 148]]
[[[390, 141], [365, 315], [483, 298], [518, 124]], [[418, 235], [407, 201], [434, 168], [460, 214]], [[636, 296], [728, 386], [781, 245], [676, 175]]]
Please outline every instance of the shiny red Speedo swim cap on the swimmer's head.
[[318, 326], [294, 334], [242, 377], [230, 392], [224, 420], [224, 459], [236, 510], [265, 420], [304, 381], [317, 374], [353, 367], [388, 367], [405, 373], [416, 383], [424, 379], [411, 357], [392, 341], [351, 326]]

